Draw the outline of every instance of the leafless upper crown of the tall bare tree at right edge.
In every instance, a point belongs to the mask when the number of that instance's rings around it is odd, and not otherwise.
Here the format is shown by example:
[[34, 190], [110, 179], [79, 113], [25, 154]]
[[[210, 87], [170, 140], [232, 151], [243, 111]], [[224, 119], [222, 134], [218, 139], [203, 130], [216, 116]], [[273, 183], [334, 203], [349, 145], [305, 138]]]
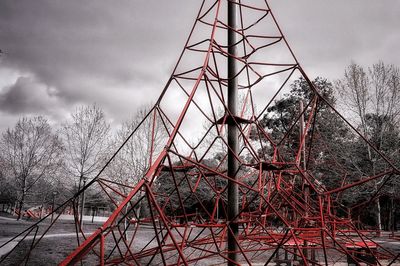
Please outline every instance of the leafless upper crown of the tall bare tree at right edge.
[[[381, 143], [381, 133], [399, 123], [400, 73], [397, 67], [379, 62], [365, 71], [352, 63], [346, 68], [344, 78], [336, 82], [336, 88], [344, 105], [355, 114], [365, 136], [370, 137], [376, 133], [372, 130], [378, 129]], [[371, 121], [371, 116], [375, 121]], [[368, 126], [368, 119], [375, 125]]]

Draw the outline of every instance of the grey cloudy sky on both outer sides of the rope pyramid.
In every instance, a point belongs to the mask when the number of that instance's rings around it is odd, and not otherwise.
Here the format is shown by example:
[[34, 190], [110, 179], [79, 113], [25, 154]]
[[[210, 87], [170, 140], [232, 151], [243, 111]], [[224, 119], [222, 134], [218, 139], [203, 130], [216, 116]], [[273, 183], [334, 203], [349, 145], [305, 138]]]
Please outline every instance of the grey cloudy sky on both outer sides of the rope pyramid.
[[[62, 122], [97, 103], [117, 126], [154, 102], [200, 0], [1, 0], [0, 131], [21, 116]], [[400, 66], [400, 1], [270, 0], [311, 78], [352, 60]]]

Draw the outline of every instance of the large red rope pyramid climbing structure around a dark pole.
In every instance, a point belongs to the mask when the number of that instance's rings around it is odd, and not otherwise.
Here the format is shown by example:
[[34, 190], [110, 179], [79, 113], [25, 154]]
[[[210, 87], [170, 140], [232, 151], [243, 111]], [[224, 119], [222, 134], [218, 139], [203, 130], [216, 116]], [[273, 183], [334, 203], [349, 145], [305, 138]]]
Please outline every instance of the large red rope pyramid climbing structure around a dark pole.
[[[277, 112], [299, 77], [303, 90]], [[123, 158], [143, 131], [143, 176], [112, 170], [129, 169]], [[379, 167], [360, 170], [348, 139]], [[361, 229], [340, 199], [398, 174], [307, 77], [267, 1], [204, 0], [147, 116], [50, 224], [11, 239], [18, 244], [1, 260], [18, 254], [35, 264], [71, 208], [76, 237], [61, 265], [394, 264], [399, 254], [374, 240], [378, 231]], [[113, 206], [90, 233], [78, 214], [88, 189]]]

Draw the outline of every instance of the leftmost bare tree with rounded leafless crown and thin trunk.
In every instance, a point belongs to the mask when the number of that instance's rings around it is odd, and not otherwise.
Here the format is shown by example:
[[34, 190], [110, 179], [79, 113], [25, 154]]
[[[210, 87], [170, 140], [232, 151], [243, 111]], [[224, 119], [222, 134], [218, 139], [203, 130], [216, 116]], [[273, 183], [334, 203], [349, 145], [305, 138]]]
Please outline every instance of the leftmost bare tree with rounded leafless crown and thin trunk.
[[18, 219], [27, 193], [43, 178], [52, 178], [61, 166], [62, 145], [43, 117], [22, 118], [0, 141], [5, 175], [17, 189]]

